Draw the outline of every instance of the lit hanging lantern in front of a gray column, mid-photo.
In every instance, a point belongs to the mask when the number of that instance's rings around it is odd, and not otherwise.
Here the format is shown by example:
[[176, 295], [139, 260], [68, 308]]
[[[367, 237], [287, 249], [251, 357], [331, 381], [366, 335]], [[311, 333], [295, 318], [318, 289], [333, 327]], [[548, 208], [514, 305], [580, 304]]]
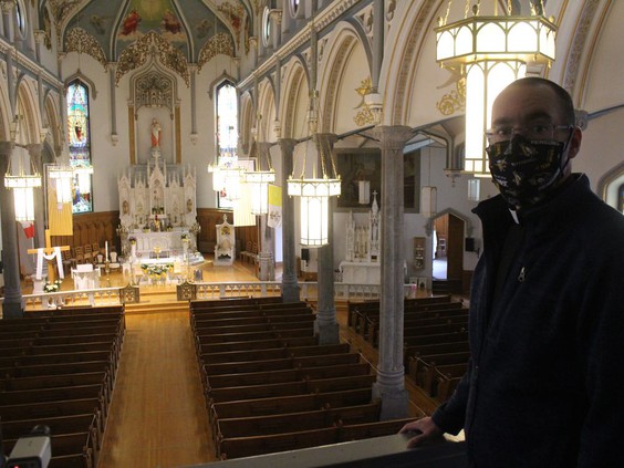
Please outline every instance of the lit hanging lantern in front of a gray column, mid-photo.
[[[309, 128], [315, 133], [316, 118], [310, 112]], [[341, 179], [337, 175], [332, 152], [323, 142], [319, 142], [318, 157], [321, 174], [316, 176], [318, 164], [312, 177], [305, 177], [305, 159], [310, 141], [305, 143], [302, 170], [299, 177], [293, 174], [288, 179], [288, 195], [301, 198], [301, 245], [305, 247], [323, 247], [329, 243], [330, 197], [341, 193]], [[330, 163], [327, 167], [327, 162]]]

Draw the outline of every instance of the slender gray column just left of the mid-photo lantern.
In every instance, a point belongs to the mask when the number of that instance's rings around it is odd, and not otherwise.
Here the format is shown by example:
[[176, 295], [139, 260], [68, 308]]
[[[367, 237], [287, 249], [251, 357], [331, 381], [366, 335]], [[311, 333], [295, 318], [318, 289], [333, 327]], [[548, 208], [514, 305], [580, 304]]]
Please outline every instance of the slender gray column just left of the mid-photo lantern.
[[288, 178], [292, 174], [297, 141], [280, 138], [279, 144], [282, 154], [282, 299], [284, 302], [298, 302], [300, 299], [294, 261], [294, 200], [288, 195]]

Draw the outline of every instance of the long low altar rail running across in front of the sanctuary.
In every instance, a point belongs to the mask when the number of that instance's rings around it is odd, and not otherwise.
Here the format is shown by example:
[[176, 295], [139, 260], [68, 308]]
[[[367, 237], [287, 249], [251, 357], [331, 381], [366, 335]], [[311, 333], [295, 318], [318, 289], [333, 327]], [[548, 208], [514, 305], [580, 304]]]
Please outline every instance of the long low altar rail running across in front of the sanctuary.
[[[186, 283], [194, 289], [195, 299], [228, 299], [241, 295], [268, 297], [281, 295], [282, 283], [279, 281], [249, 281], [249, 282], [197, 282]], [[305, 281], [298, 283], [300, 298], [302, 300], [318, 300], [318, 283]], [[179, 285], [178, 285], [179, 287]], [[128, 288], [98, 288], [90, 290], [69, 290], [59, 292], [40, 292], [35, 294], [23, 294], [22, 301], [24, 310], [48, 310], [72, 305], [114, 305], [128, 301]], [[416, 293], [415, 284], [404, 284], [403, 291], [406, 298], [414, 297]], [[137, 290], [138, 288], [129, 288]], [[144, 289], [148, 293], [149, 287]], [[175, 293], [175, 290], [173, 291]], [[379, 284], [350, 284], [334, 283], [334, 298], [337, 300], [375, 300], [379, 299]], [[138, 293], [136, 295], [138, 300]], [[0, 298], [0, 303], [3, 298]]]

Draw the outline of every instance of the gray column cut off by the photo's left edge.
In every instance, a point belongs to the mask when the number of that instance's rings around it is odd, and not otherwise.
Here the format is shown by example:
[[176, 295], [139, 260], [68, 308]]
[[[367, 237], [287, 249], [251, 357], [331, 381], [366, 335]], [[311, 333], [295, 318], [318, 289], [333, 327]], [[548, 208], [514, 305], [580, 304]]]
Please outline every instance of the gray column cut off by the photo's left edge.
[[[0, 174], [7, 174], [13, 146], [0, 142]], [[23, 316], [22, 291], [20, 284], [20, 259], [18, 254], [18, 233], [15, 231], [15, 207], [13, 194], [0, 184], [0, 209], [2, 210], [2, 264], [4, 272], [4, 302], [2, 316], [15, 319]]]

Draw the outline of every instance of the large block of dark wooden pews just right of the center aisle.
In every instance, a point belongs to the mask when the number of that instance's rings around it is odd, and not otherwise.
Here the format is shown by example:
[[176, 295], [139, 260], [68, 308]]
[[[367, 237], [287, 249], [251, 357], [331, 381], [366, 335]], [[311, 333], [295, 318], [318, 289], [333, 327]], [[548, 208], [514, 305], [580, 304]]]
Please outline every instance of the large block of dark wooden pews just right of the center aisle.
[[191, 301], [190, 323], [220, 459], [396, 434], [379, 422], [371, 365], [320, 345], [315, 314], [281, 298]]

